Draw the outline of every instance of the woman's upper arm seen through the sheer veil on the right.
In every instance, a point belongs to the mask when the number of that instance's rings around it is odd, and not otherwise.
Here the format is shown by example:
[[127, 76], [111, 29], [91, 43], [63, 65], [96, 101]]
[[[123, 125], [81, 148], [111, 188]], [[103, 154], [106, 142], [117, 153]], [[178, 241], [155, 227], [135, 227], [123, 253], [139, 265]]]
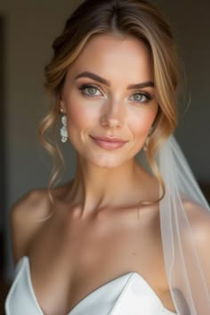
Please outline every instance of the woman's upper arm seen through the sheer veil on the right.
[[[186, 205], [185, 205], [186, 206]], [[209, 314], [210, 308], [210, 212], [188, 203], [185, 211], [190, 229], [181, 230], [174, 266], [174, 294], [178, 311]], [[184, 225], [186, 226], [186, 225]], [[182, 249], [182, 255], [180, 255]]]

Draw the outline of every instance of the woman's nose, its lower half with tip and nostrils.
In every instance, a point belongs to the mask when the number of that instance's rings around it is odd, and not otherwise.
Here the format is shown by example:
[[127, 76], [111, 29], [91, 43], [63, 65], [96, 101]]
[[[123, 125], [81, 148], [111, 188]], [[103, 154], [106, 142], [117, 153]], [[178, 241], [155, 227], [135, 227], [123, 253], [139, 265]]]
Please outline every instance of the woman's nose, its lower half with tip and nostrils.
[[122, 104], [107, 104], [101, 114], [100, 123], [103, 127], [121, 128], [124, 123], [124, 109], [122, 108]]

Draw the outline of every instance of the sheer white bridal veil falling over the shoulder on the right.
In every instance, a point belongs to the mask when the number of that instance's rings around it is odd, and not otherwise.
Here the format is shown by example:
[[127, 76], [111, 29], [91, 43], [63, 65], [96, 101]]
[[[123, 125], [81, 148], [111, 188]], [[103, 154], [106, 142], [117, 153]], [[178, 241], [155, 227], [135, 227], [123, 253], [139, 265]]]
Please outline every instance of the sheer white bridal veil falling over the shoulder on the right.
[[179, 315], [209, 315], [209, 206], [174, 135], [159, 150], [157, 163], [166, 184], [160, 226], [174, 306]]

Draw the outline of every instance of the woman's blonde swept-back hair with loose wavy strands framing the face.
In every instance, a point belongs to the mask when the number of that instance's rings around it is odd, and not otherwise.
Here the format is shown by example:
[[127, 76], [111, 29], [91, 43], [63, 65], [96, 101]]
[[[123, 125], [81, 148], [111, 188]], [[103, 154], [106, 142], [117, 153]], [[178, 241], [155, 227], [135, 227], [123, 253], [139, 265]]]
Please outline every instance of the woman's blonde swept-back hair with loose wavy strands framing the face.
[[[55, 134], [60, 117], [59, 94], [67, 71], [88, 40], [107, 33], [134, 36], [149, 47], [159, 108], [153, 132], [149, 135], [147, 157], [162, 187], [163, 198], [166, 189], [155, 155], [163, 142], [174, 132], [177, 124], [178, 60], [174, 38], [166, 19], [156, 6], [144, 0], [86, 0], [70, 16], [61, 36], [52, 44], [52, 61], [45, 67], [45, 88], [52, 96], [52, 109], [44, 117], [39, 128], [45, 149], [56, 160], [49, 191], [59, 174], [62, 160]], [[50, 129], [54, 130], [52, 141], [45, 137]]]

